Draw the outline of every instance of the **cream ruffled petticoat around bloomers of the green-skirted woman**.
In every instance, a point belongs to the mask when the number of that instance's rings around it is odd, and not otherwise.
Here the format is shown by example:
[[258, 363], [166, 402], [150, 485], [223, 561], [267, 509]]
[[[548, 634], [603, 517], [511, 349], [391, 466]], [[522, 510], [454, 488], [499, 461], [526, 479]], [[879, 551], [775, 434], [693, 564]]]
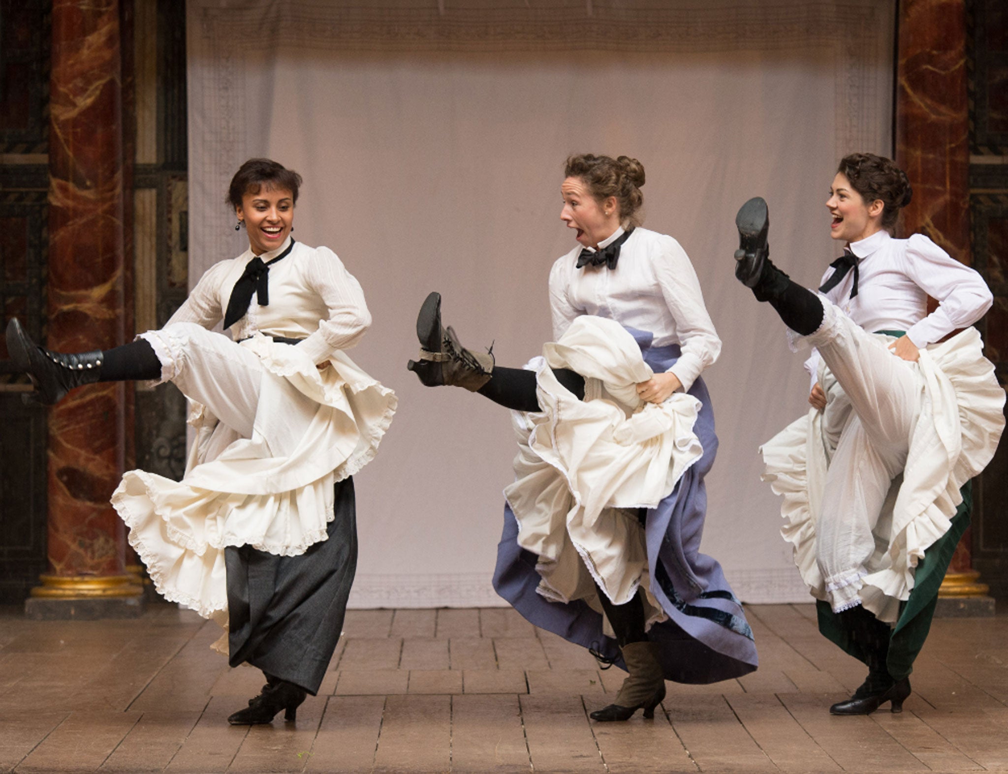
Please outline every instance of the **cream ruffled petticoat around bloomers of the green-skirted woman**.
[[[858, 592], [862, 604], [882, 621], [896, 621], [900, 603], [913, 590], [917, 562], [952, 524], [963, 501], [961, 487], [984, 470], [997, 448], [1005, 423], [1005, 391], [982, 346], [980, 334], [969, 328], [920, 351], [922, 409], [910, 433], [902, 477], [893, 481], [876, 524], [877, 547]], [[820, 383], [828, 395], [841, 389], [825, 364]], [[810, 409], [760, 452], [763, 480], [783, 496], [781, 534], [794, 548], [801, 578], [815, 599], [829, 601], [815, 558], [815, 524], [837, 439], [824, 425], [823, 413]]]

